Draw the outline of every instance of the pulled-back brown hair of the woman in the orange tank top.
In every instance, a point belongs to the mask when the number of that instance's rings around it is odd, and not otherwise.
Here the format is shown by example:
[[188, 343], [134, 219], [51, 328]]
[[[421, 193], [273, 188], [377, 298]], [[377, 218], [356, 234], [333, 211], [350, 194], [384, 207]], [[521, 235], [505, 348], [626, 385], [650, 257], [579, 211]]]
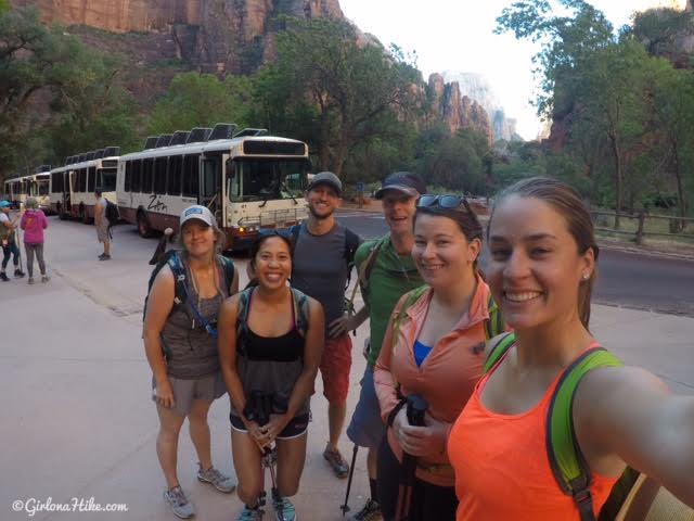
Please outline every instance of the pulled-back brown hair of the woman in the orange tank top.
[[[502, 190], [494, 199], [489, 223], [487, 223], [487, 239], [489, 239], [489, 229], [494, 217], [494, 209], [504, 199], [512, 195], [537, 199], [552, 206], [556, 213], [564, 217], [568, 232], [576, 242], [578, 254], [583, 255], [589, 249], [592, 249], [595, 263], [597, 263], [599, 249], [595, 243], [595, 231], [590, 212], [576, 190], [556, 179], [531, 177]], [[578, 314], [583, 327], [587, 329], [590, 322], [590, 301], [596, 277], [597, 268], [595, 267], [590, 278], [581, 281], [578, 289]]]

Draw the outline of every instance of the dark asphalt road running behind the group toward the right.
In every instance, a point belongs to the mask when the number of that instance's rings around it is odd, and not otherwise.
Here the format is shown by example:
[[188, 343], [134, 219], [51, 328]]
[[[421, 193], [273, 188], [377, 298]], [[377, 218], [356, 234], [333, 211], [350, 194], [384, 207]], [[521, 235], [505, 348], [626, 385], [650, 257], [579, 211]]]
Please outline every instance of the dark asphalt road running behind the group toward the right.
[[[363, 238], [387, 229], [378, 214], [343, 212], [339, 220]], [[594, 302], [694, 317], [694, 262], [603, 249], [597, 267]]]

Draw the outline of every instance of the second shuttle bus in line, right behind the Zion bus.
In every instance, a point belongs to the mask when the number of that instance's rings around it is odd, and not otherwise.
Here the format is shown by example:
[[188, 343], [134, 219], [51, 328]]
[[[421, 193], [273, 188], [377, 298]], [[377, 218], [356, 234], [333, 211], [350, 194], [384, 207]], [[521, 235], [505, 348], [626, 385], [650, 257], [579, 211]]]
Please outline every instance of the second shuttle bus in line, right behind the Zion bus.
[[51, 170], [50, 204], [61, 219], [78, 218], [85, 224], [94, 219], [94, 190], [116, 203], [118, 147], [73, 155], [65, 165]]

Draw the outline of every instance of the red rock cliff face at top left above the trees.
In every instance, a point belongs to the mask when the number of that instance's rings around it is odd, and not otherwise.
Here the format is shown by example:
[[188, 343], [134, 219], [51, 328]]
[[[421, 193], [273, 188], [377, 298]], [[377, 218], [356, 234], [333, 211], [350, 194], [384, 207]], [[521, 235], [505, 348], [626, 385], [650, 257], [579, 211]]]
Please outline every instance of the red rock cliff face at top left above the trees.
[[[168, 35], [174, 43], [159, 60], [182, 59], [203, 72], [249, 73], [266, 55], [270, 21], [286, 14], [343, 18], [338, 0], [12, 0], [36, 5], [46, 23], [88, 26], [108, 33]], [[156, 39], [156, 38], [154, 38]]]

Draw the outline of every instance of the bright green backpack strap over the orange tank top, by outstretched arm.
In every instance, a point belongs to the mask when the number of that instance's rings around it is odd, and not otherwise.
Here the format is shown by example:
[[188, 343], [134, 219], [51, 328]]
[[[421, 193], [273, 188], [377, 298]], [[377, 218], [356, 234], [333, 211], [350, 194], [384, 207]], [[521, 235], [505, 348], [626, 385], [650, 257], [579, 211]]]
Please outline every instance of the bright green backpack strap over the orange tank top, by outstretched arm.
[[591, 471], [574, 431], [574, 395], [582, 378], [600, 367], [619, 367], [621, 361], [602, 347], [583, 353], [562, 374], [547, 414], [547, 450], [554, 479], [564, 494], [574, 498], [581, 521], [594, 521], [590, 493]]

